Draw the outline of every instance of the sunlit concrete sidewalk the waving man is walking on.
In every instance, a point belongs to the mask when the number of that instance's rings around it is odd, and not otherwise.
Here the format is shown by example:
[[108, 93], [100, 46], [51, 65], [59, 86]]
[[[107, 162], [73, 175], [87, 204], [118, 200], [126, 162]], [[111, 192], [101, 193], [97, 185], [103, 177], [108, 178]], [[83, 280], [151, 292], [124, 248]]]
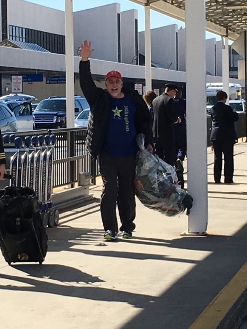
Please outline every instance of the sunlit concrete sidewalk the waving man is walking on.
[[208, 148], [207, 236], [180, 236], [185, 214], [167, 218], [137, 201], [134, 238], [105, 242], [93, 186], [94, 203], [48, 229], [43, 265], [0, 256], [0, 328], [189, 328], [247, 262], [247, 143], [234, 159], [235, 184], [214, 184]]

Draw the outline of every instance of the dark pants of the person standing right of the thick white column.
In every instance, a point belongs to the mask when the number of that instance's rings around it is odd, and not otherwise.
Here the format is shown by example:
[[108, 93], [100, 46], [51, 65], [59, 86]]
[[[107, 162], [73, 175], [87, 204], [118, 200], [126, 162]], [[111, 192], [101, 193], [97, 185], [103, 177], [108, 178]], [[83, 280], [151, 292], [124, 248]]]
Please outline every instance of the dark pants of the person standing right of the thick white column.
[[212, 141], [214, 150], [213, 176], [215, 182], [220, 182], [222, 171], [222, 153], [224, 154], [224, 177], [225, 183], [233, 181], [233, 142], [229, 141]]

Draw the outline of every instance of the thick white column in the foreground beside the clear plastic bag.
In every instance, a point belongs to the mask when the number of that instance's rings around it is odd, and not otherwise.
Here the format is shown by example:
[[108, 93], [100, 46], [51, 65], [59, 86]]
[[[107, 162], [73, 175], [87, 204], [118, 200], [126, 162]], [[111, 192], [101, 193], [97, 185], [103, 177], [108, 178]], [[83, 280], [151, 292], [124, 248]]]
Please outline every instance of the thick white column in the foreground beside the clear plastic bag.
[[204, 234], [207, 227], [205, 17], [205, 0], [185, 0], [188, 193], [194, 198], [188, 233], [192, 234]]

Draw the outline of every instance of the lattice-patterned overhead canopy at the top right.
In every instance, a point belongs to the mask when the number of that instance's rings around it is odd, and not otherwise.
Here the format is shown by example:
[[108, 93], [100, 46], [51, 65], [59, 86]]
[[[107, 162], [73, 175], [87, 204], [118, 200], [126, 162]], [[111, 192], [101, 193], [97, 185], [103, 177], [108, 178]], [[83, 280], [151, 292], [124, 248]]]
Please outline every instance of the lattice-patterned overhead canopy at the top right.
[[[131, 0], [185, 21], [185, 0]], [[195, 15], [197, 13], [195, 12]], [[247, 0], [206, 0], [206, 30], [236, 40], [247, 30]]]

